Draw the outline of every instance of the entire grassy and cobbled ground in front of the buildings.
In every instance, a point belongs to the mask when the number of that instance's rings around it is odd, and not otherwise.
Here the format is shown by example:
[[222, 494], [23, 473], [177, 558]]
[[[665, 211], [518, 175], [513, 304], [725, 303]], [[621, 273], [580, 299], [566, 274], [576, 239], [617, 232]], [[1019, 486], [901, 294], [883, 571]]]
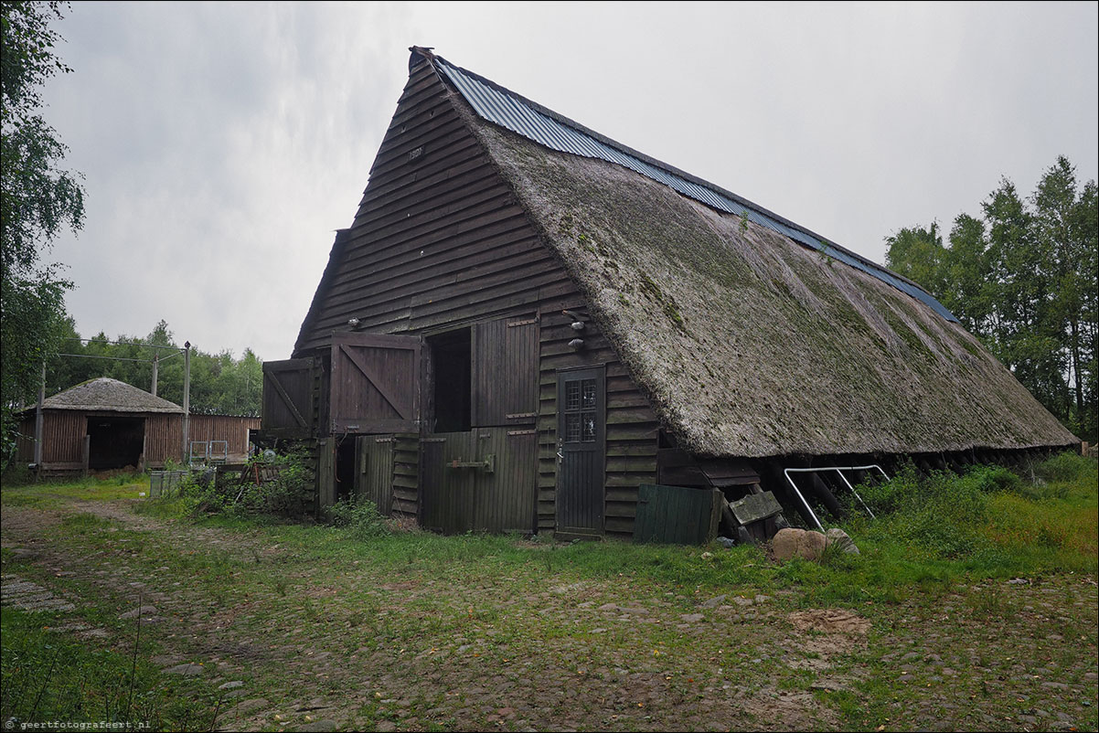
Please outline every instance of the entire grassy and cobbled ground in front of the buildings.
[[844, 525], [859, 555], [785, 564], [759, 547], [196, 518], [186, 497], [116, 479], [4, 487], [5, 587], [73, 608], [31, 612], [5, 591], [2, 715], [1095, 730], [1096, 462], [1062, 456], [1034, 478], [899, 476], [864, 493], [877, 521]]

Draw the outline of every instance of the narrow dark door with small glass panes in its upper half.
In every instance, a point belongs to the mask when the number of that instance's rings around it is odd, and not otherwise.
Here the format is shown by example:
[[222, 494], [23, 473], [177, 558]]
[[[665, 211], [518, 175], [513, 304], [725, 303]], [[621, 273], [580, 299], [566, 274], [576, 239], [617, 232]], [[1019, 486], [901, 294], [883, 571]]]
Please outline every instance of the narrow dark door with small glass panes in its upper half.
[[603, 367], [557, 373], [557, 532], [602, 534]]

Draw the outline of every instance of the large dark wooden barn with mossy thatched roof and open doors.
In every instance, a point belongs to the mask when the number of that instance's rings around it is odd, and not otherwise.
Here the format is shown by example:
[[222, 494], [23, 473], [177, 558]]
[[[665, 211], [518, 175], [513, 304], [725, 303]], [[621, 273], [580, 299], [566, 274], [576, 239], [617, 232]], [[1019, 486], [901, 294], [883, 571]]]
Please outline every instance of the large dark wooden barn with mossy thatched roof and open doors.
[[318, 508], [631, 537], [674, 509], [654, 487], [790, 506], [859, 476], [789, 469], [1078, 444], [914, 282], [411, 51], [292, 358], [264, 365], [263, 435], [315, 446]]

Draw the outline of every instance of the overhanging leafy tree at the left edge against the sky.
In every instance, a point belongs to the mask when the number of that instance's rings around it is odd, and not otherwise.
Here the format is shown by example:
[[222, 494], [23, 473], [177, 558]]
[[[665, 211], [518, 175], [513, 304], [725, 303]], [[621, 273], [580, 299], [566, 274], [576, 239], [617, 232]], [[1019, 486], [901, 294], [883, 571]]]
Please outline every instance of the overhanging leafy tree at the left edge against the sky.
[[38, 113], [40, 88], [68, 69], [54, 54], [60, 40], [49, 23], [57, 2], [0, 5], [0, 456], [14, 448], [13, 410], [37, 393], [45, 356], [56, 351], [71, 282], [42, 254], [63, 229], [84, 224], [79, 174], [59, 170], [66, 147]]

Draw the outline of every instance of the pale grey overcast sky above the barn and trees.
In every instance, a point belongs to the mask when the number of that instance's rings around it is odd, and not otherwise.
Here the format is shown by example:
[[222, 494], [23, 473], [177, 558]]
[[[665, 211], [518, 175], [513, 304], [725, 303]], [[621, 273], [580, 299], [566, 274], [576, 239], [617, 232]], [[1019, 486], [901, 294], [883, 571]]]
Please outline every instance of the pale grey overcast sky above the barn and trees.
[[52, 258], [81, 335], [288, 358], [415, 44], [882, 262], [1001, 177], [1097, 177], [1097, 8], [76, 1], [45, 115], [87, 221]]

